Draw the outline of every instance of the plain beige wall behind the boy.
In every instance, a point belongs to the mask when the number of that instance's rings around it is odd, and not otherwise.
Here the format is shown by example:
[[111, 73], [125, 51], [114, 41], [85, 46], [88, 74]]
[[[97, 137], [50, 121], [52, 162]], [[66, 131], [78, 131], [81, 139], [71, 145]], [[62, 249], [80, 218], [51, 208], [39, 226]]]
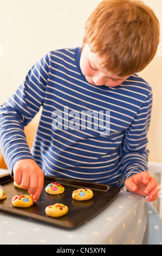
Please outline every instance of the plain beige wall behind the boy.
[[[162, 25], [162, 1], [144, 0]], [[50, 50], [81, 46], [84, 23], [100, 0], [0, 0], [0, 104], [21, 84], [35, 62]], [[162, 26], [161, 26], [162, 27]], [[148, 149], [162, 162], [162, 38], [140, 75], [153, 89]]]

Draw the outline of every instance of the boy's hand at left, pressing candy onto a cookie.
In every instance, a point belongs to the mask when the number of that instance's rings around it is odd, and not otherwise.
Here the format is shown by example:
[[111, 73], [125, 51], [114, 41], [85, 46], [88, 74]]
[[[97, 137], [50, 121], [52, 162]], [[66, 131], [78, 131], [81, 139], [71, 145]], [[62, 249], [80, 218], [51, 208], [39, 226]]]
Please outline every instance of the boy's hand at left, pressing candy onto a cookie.
[[28, 188], [34, 203], [37, 202], [43, 189], [43, 170], [34, 160], [23, 159], [14, 164], [13, 173], [14, 181], [21, 184], [23, 189]]

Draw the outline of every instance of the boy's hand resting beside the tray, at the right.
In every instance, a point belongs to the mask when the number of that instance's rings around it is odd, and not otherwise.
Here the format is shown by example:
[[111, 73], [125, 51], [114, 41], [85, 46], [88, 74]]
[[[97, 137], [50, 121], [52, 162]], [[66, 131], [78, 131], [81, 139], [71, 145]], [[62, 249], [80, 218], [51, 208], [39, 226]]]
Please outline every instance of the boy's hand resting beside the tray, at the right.
[[147, 202], [158, 198], [160, 185], [148, 172], [141, 172], [129, 177], [125, 181], [125, 186], [128, 191], [140, 196], [147, 197]]

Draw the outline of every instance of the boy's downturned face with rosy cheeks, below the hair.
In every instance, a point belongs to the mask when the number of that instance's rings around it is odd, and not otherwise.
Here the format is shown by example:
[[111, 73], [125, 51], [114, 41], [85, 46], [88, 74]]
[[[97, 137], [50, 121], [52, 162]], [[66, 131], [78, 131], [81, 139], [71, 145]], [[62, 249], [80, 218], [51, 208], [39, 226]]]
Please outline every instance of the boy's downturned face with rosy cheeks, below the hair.
[[110, 71], [105, 71], [100, 65], [102, 60], [103, 57], [91, 52], [89, 46], [85, 45], [81, 53], [80, 68], [88, 83], [95, 86], [115, 87], [128, 78], [128, 76], [119, 77]]

